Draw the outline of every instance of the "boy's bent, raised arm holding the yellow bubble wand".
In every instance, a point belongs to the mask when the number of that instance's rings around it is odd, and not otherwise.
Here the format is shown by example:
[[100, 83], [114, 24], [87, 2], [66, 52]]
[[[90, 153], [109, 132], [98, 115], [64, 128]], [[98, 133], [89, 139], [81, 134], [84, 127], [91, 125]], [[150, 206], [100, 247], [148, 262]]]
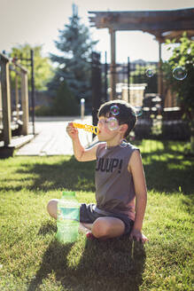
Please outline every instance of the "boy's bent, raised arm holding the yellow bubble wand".
[[96, 160], [97, 146], [92, 146], [89, 149], [85, 149], [80, 142], [78, 136], [78, 130], [74, 128], [73, 122], [69, 122], [66, 127], [66, 132], [70, 138], [72, 138], [74, 156], [77, 161], [94, 161]]

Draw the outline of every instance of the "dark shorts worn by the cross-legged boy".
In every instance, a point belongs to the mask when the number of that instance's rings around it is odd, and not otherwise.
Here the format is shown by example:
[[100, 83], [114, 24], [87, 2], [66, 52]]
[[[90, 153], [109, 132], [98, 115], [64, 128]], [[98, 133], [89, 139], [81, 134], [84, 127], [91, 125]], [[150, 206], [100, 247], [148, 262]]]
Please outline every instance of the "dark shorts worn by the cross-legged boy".
[[125, 232], [128, 234], [131, 232], [134, 221], [131, 220], [127, 215], [122, 213], [111, 213], [104, 215], [99, 214], [93, 209], [94, 204], [82, 203], [80, 207], [80, 222], [85, 224], [93, 224], [98, 217], [116, 217], [119, 218], [125, 224]]

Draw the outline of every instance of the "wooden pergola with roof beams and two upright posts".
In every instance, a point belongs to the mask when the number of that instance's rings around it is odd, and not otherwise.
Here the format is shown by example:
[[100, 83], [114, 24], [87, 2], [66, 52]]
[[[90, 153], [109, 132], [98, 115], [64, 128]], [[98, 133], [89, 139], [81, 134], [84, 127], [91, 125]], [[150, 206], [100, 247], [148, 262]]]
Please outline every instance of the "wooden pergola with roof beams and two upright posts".
[[108, 28], [111, 35], [111, 99], [116, 96], [116, 31], [141, 30], [155, 36], [159, 42], [158, 93], [162, 96], [161, 43], [167, 39], [179, 42], [184, 31], [194, 36], [194, 8], [168, 11], [89, 12], [91, 27]]

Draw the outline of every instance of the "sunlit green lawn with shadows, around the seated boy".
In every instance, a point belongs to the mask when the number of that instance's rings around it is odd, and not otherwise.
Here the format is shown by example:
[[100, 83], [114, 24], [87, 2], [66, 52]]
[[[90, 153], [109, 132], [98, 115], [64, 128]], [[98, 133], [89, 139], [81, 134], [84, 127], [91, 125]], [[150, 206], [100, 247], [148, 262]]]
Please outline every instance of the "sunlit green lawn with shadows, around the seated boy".
[[144, 140], [148, 187], [142, 246], [128, 237], [74, 243], [55, 240], [51, 198], [74, 190], [95, 201], [94, 162], [71, 156], [0, 160], [0, 290], [193, 290], [194, 160], [183, 143]]

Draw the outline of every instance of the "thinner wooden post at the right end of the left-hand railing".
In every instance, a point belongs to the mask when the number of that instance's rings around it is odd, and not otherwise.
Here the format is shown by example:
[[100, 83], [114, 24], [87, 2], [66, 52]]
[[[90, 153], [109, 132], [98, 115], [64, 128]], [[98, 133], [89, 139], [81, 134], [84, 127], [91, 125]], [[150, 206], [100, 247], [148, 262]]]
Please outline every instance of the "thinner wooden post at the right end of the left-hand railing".
[[28, 89], [27, 89], [27, 71], [21, 69], [21, 108], [23, 111], [22, 114], [22, 130], [21, 134], [26, 136], [28, 134]]

